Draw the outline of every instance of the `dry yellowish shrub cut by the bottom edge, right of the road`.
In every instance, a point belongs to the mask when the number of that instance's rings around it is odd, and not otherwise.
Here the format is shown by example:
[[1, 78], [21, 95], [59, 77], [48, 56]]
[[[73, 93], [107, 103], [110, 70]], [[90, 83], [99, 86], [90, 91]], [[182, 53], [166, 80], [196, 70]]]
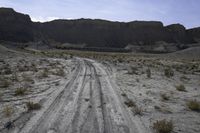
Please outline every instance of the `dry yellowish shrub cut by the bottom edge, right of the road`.
[[172, 121], [167, 121], [166, 119], [157, 120], [153, 123], [153, 129], [156, 133], [171, 133], [173, 131], [173, 123]]

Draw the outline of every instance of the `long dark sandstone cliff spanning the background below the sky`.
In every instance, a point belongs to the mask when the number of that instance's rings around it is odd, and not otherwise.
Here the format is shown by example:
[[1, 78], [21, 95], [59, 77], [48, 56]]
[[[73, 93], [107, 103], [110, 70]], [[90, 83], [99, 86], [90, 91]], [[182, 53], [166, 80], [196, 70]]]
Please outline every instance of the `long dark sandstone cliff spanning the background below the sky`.
[[164, 27], [157, 21], [123, 23], [78, 19], [34, 23], [28, 15], [9, 8], [0, 8], [0, 18], [0, 40], [16, 42], [52, 41], [87, 47], [124, 48], [127, 45], [152, 45], [158, 41], [190, 43], [199, 36], [199, 30], [187, 31], [180, 24]]

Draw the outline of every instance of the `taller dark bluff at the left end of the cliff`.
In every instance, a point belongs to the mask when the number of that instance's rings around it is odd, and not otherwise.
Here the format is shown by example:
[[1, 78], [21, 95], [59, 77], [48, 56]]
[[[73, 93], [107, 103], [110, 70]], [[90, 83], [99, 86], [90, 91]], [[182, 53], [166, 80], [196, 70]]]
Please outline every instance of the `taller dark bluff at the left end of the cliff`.
[[32, 41], [33, 34], [30, 17], [17, 13], [10, 8], [0, 8], [0, 40]]

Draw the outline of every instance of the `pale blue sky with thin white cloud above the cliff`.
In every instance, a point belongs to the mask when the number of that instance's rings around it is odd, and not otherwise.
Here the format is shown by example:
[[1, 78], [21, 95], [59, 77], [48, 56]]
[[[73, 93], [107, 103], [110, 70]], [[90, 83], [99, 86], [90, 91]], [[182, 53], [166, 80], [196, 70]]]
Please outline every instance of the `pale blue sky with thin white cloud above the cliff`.
[[0, 7], [11, 7], [40, 22], [92, 18], [200, 26], [200, 0], [0, 0]]

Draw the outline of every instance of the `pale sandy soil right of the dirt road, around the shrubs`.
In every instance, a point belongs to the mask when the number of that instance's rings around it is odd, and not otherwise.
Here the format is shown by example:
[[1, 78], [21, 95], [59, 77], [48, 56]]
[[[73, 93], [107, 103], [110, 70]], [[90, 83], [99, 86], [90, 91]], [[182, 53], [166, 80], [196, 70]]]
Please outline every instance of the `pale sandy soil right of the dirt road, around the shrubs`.
[[[146, 61], [146, 62], [145, 62]], [[194, 63], [195, 64], [195, 63]], [[197, 63], [199, 64], [199, 63]], [[181, 67], [176, 69], [175, 66]], [[121, 63], [116, 70], [116, 83], [121, 94], [134, 101], [143, 114], [136, 115], [147, 128], [157, 120], [171, 120], [176, 133], [199, 133], [200, 114], [187, 107], [189, 100], [200, 101], [200, 66], [197, 69], [184, 69], [187, 62], [172, 60], [134, 60]], [[166, 66], [171, 66], [174, 76], [164, 75]], [[130, 67], [135, 70], [130, 73]], [[151, 70], [151, 77], [147, 77], [146, 70]], [[176, 86], [184, 85], [186, 92], [176, 90]], [[167, 100], [162, 95], [167, 96]], [[134, 108], [131, 108], [134, 113]]]

